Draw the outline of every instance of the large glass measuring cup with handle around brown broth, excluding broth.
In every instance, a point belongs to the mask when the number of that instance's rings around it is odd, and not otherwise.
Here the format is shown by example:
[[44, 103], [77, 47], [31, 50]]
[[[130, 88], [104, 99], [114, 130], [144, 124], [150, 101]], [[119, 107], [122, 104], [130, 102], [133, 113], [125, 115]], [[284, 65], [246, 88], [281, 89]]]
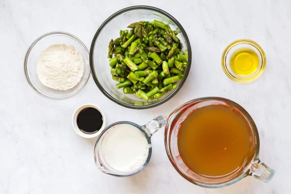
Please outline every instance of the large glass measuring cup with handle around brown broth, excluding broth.
[[[238, 114], [241, 114], [245, 118], [246, 122], [248, 122], [253, 133], [252, 143], [255, 151], [249, 162], [242, 166], [242, 168], [240, 168], [241, 170], [221, 177], [206, 177], [193, 172], [183, 162], [178, 150], [179, 129], [184, 120], [186, 119], [186, 117], [196, 109], [209, 105], [222, 106], [225, 108], [229, 108]], [[228, 186], [249, 175], [257, 179], [260, 179], [261, 181], [269, 182], [275, 174], [274, 170], [272, 170], [267, 165], [262, 163], [262, 161], [260, 161], [260, 159], [258, 158], [260, 140], [255, 122], [244, 108], [242, 108], [239, 104], [225, 98], [220, 97], [198, 98], [191, 100], [181, 105], [180, 107], [176, 108], [169, 115], [166, 121], [165, 147], [168, 158], [170, 159], [172, 165], [177, 170], [177, 172], [191, 183], [202, 187], [219, 188]]]

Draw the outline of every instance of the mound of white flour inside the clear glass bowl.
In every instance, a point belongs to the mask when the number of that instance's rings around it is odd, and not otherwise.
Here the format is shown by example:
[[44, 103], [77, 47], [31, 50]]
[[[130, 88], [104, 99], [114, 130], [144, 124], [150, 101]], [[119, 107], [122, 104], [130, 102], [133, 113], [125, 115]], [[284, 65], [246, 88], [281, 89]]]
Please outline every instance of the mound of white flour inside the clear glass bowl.
[[42, 51], [36, 73], [40, 82], [56, 90], [76, 86], [84, 72], [81, 54], [72, 45], [52, 45]]

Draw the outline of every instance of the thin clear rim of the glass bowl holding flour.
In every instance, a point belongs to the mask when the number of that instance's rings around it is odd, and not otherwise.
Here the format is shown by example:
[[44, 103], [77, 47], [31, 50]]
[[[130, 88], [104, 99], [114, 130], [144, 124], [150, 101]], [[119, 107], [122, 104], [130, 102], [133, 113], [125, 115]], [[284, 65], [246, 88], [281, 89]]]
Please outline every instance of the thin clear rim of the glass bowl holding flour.
[[[27, 71], [27, 60], [28, 60], [29, 54], [30, 54], [32, 48], [34, 47], [34, 45], [36, 45], [36, 43], [38, 43], [43, 38], [45, 38], [47, 36], [50, 36], [50, 35], [65, 35], [65, 36], [68, 36], [69, 38], [72, 38], [77, 43], [79, 43], [79, 45], [83, 48], [83, 50], [85, 51], [85, 54], [86, 54], [86, 58], [88, 60], [89, 60], [89, 51], [88, 51], [87, 47], [84, 45], [84, 43], [79, 38], [77, 38], [76, 36], [72, 35], [71, 33], [64, 32], [64, 31], [52, 31], [52, 32], [45, 33], [45, 34], [41, 35], [40, 37], [38, 37], [35, 41], [33, 41], [33, 43], [29, 46], [29, 48], [28, 48], [28, 50], [26, 52], [25, 58], [24, 58], [24, 73], [25, 73], [25, 76], [26, 76], [26, 80], [29, 83], [29, 86], [33, 89], [33, 91], [35, 91], [38, 95], [40, 95], [40, 96], [42, 96], [44, 98], [51, 99], [51, 100], [63, 100], [63, 99], [67, 99], [67, 98], [70, 98], [70, 97], [76, 95], [77, 93], [79, 93], [84, 88], [84, 86], [88, 82], [91, 70], [90, 70], [90, 65], [89, 65], [88, 66], [89, 67], [88, 73], [87, 73], [87, 75], [85, 77], [85, 80], [82, 83], [81, 87], [79, 89], [77, 89], [77, 90], [74, 90], [72, 93], [70, 93], [68, 95], [65, 95], [63, 97], [51, 97], [51, 96], [47, 96], [47, 95], [39, 92], [38, 89], [33, 86], [33, 84], [31, 83], [31, 80], [29, 78], [28, 71]], [[85, 68], [85, 66], [84, 66], [84, 68]]]

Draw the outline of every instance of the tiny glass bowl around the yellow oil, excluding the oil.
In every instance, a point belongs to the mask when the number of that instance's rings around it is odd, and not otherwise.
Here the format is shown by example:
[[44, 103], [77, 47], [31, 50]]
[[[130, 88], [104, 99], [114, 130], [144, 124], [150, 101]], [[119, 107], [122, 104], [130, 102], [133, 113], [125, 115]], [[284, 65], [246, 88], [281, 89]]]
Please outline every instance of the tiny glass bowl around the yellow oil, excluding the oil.
[[[258, 55], [259, 60], [258, 68], [256, 71], [247, 76], [236, 74], [230, 67], [230, 58], [232, 54], [238, 49], [242, 48], [253, 50]], [[223, 51], [221, 65], [224, 73], [228, 76], [229, 79], [239, 83], [250, 83], [258, 79], [264, 72], [266, 66], [266, 56], [262, 47], [260, 47], [258, 43], [248, 39], [240, 39], [230, 43]]]

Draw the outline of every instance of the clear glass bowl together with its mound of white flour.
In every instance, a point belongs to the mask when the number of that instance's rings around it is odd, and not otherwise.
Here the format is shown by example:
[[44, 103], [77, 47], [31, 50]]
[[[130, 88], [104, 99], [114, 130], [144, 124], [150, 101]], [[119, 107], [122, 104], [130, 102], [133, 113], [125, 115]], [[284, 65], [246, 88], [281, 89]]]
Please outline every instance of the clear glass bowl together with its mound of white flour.
[[66, 99], [85, 86], [90, 75], [89, 52], [67, 32], [49, 32], [29, 47], [24, 72], [31, 88], [42, 97]]

